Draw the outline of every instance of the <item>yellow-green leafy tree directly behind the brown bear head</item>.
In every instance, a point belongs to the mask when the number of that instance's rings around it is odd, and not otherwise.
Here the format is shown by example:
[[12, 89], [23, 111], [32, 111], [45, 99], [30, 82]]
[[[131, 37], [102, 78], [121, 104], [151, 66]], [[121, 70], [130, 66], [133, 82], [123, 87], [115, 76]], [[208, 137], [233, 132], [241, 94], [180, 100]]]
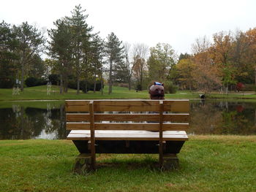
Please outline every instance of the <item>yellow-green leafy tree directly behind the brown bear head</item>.
[[176, 63], [176, 54], [169, 44], [158, 43], [151, 47], [148, 58], [148, 73], [151, 80], [165, 82], [170, 70]]

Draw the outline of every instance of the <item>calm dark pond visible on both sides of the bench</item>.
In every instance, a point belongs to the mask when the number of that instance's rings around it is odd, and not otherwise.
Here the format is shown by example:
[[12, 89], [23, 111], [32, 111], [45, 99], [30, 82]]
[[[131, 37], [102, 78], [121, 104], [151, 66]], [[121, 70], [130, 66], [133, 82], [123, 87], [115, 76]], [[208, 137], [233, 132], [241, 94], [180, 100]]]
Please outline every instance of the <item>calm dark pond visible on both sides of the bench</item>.
[[[191, 100], [189, 134], [256, 134], [256, 101]], [[0, 102], [0, 139], [66, 139], [64, 101]]]

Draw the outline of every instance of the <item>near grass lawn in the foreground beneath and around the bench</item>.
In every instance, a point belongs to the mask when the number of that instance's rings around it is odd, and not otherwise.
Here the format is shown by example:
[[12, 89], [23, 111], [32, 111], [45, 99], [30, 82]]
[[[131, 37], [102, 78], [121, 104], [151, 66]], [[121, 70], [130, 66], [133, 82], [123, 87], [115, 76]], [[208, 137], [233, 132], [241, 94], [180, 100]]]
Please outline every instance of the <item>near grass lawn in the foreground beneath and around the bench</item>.
[[194, 136], [180, 169], [160, 172], [157, 155], [98, 155], [97, 172], [72, 174], [65, 140], [0, 141], [1, 191], [256, 191], [256, 136]]

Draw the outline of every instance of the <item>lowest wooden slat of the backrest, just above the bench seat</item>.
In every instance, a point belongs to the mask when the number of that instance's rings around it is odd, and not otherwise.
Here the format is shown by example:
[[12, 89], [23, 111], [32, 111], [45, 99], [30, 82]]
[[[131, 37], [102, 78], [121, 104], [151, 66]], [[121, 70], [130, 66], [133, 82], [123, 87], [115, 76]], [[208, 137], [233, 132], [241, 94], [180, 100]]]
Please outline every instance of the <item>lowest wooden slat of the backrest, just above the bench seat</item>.
[[[159, 131], [159, 123], [94, 123], [95, 130]], [[90, 130], [90, 123], [67, 123], [67, 130]], [[163, 131], [187, 131], [189, 123], [163, 123]]]

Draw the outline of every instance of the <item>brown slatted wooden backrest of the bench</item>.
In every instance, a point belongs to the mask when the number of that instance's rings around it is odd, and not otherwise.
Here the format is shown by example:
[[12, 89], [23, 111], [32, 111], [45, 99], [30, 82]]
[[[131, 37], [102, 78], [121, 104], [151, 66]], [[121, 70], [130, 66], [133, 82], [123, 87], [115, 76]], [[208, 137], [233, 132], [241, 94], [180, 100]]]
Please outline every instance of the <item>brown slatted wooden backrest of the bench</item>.
[[187, 131], [189, 127], [189, 100], [67, 100], [65, 107], [67, 130]]

